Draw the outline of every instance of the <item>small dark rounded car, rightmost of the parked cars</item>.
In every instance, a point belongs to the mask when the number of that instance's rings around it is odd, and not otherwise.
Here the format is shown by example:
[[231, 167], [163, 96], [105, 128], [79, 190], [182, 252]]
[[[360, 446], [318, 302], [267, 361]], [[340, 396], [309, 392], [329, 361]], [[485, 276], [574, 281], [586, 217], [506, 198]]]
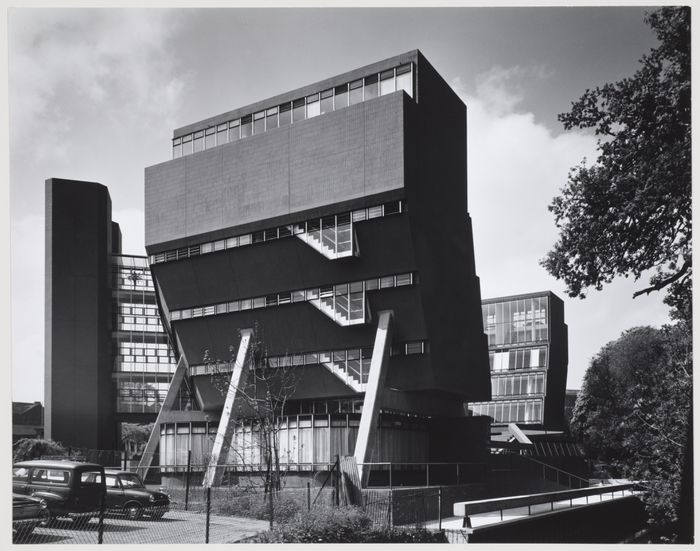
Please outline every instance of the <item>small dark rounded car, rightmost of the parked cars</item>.
[[163, 492], [149, 490], [136, 473], [105, 469], [107, 508], [111, 513], [124, 513], [131, 519], [144, 514], [153, 519], [170, 509], [170, 498]]

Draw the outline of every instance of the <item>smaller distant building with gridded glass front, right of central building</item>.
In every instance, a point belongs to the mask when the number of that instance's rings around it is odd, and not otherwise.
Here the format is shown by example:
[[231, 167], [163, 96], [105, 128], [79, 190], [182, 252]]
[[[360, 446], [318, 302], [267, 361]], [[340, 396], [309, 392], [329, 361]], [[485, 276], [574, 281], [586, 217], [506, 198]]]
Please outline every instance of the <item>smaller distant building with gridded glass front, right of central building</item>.
[[563, 430], [568, 333], [562, 300], [545, 291], [487, 299], [481, 309], [492, 400], [471, 402], [469, 409], [488, 415], [494, 427]]

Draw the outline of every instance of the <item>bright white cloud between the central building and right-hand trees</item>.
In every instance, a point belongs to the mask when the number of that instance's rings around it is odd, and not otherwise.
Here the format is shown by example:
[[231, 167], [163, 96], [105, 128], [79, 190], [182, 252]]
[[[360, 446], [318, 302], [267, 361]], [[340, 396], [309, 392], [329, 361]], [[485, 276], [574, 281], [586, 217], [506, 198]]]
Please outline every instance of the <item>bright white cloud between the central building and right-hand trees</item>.
[[467, 104], [469, 212], [474, 229], [482, 297], [552, 290], [565, 301], [569, 326], [569, 386], [580, 387], [590, 359], [607, 342], [636, 325], [668, 321], [663, 295], [640, 297], [621, 279], [585, 300], [570, 299], [561, 282], [540, 265], [557, 238], [552, 198], [571, 167], [597, 158], [595, 136], [555, 135], [532, 113], [518, 112], [520, 79], [546, 76], [542, 69], [494, 67], [475, 79], [475, 93], [452, 82]]

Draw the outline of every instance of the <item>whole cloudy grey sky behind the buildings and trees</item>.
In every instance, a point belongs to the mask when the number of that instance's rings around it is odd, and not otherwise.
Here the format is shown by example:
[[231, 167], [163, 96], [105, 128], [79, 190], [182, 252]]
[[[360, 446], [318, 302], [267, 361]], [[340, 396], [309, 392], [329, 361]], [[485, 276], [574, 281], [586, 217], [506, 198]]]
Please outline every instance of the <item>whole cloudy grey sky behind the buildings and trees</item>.
[[468, 111], [469, 211], [482, 298], [552, 290], [569, 328], [567, 388], [622, 331], [669, 321], [663, 296], [620, 279], [584, 300], [539, 265], [547, 206], [596, 158], [557, 114], [631, 76], [656, 42], [642, 7], [10, 9], [12, 394], [43, 401], [44, 181], [109, 188], [123, 251], [144, 251], [144, 168], [172, 131], [420, 49]]

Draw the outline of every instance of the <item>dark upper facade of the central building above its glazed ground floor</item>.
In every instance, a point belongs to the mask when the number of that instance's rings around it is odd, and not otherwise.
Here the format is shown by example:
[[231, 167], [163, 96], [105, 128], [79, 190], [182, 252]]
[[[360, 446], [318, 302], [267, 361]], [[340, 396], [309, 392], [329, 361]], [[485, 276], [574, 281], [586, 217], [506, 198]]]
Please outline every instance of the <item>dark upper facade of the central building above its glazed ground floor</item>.
[[[395, 71], [398, 83], [405, 67], [410, 90], [370, 98], [375, 78], [381, 92], [384, 75]], [[363, 83], [364, 99], [338, 108], [337, 98], [343, 90], [352, 93], [356, 82]], [[318, 93], [321, 101], [324, 93], [335, 98], [328, 112], [282, 125], [285, 105], [306, 98], [305, 113], [311, 113]], [[205, 352], [230, 357], [238, 332], [254, 326], [264, 332], [269, 356], [301, 358], [289, 366], [299, 372], [290, 402], [299, 414], [325, 401], [319, 413], [334, 415], [340, 412], [329, 401], [352, 399], [360, 406], [350, 413], [359, 416], [366, 380], [358, 375], [356, 385], [348, 382], [350, 353], [364, 358], [361, 351], [375, 342], [377, 314], [391, 311], [396, 352], [380, 398], [383, 415], [433, 419], [420, 429], [427, 434], [420, 460], [452, 457], [449, 439], [436, 432], [431, 440], [426, 427], [436, 417], [455, 427], [477, 422], [464, 417], [462, 404], [490, 398], [467, 210], [465, 105], [412, 51], [180, 128], [174, 143], [226, 132], [249, 116], [254, 125], [258, 115], [278, 118], [250, 136], [240, 130], [233, 142], [228, 135], [225, 143], [202, 142], [200, 151], [195, 146], [192, 154], [146, 169], [151, 271], [197, 402], [197, 411], [164, 414], [163, 434], [218, 419], [223, 397], [202, 370]], [[346, 215], [352, 254], [330, 257], [322, 245], [310, 246], [311, 237], [304, 240], [316, 231], [315, 221], [319, 231], [340, 235]], [[335, 222], [327, 227], [326, 220]], [[324, 315], [324, 289], [333, 287], [335, 307], [353, 285], [364, 301], [359, 322], [339, 322], [337, 311], [334, 319]], [[347, 359], [315, 361], [324, 351], [342, 351], [338, 357]], [[334, 372], [338, 362], [345, 381]], [[314, 408], [308, 413], [315, 416]], [[472, 441], [485, 449], [485, 438]], [[377, 447], [374, 460], [400, 461], [402, 453]]]

